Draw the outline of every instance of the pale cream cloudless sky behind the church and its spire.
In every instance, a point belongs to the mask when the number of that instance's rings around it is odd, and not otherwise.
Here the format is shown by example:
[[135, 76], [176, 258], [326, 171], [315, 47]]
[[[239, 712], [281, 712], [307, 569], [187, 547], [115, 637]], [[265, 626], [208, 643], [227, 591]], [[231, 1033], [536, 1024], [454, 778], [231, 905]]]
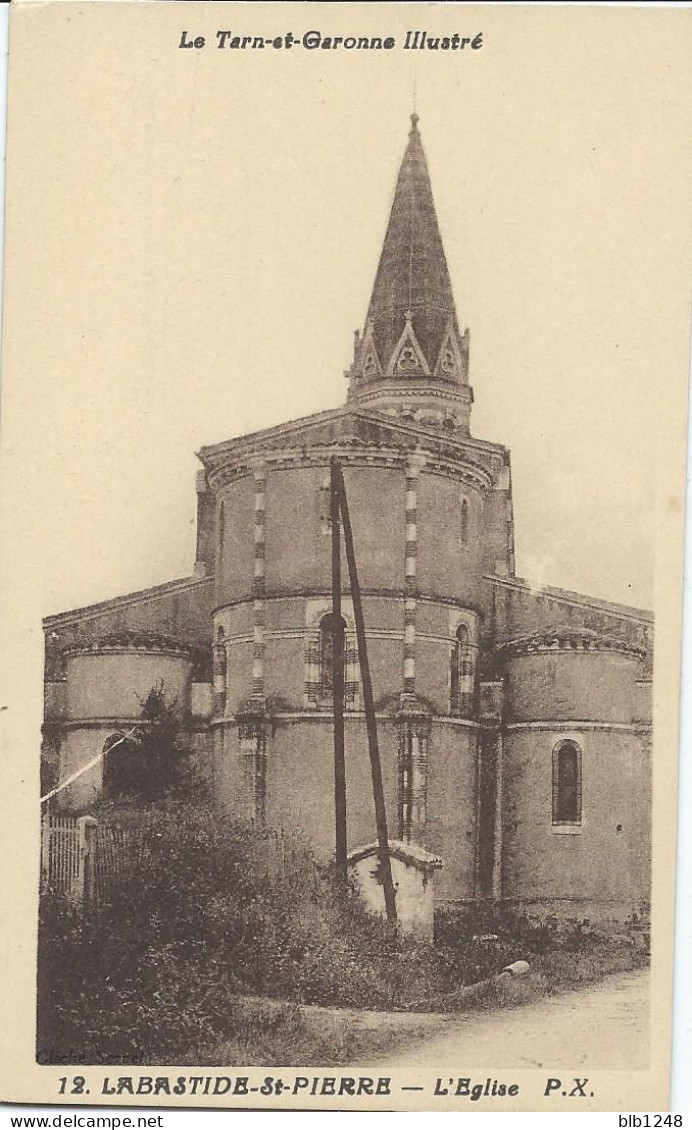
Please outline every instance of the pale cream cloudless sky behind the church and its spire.
[[559, 21], [525, 14], [519, 40], [494, 9], [464, 55], [187, 51], [184, 9], [153, 9], [93, 53], [57, 19], [52, 96], [26, 92], [33, 144], [10, 136], [6, 434], [50, 546], [43, 615], [190, 574], [194, 452], [343, 402], [414, 89], [517, 571], [650, 607], [657, 402], [689, 321], [665, 52], [642, 79], [606, 21], [587, 67]]

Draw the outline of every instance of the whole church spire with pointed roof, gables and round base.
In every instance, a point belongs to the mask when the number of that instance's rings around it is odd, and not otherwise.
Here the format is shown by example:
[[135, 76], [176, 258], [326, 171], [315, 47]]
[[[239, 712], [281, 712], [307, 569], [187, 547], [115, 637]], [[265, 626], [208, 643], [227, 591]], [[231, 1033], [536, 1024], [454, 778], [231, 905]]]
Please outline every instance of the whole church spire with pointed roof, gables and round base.
[[414, 112], [365, 329], [356, 336], [351, 398], [468, 431], [468, 333], [459, 330], [418, 120]]

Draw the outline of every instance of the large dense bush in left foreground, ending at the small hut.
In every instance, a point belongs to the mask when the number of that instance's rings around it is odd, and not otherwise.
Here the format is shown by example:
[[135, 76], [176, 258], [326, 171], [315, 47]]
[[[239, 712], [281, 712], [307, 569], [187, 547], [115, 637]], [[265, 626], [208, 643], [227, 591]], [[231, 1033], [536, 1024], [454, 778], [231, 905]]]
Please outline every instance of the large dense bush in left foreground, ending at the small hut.
[[44, 1062], [180, 1058], [234, 1036], [248, 994], [395, 1002], [386, 970], [396, 936], [354, 893], [337, 894], [308, 854], [274, 873], [261, 836], [200, 805], [104, 807], [102, 825], [104, 816], [127, 832], [128, 850], [107, 897], [84, 924], [60, 897], [42, 898]]

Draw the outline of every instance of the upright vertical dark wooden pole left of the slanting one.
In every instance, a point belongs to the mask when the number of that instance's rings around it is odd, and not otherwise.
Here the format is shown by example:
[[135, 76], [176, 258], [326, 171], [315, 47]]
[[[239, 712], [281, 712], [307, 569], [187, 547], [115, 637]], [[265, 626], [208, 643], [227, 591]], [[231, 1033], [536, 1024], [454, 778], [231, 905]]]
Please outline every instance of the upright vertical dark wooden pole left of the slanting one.
[[339, 507], [340, 469], [336, 458], [330, 464], [331, 514], [331, 619], [334, 693], [334, 812], [337, 876], [348, 878], [346, 840], [346, 755], [344, 747], [344, 617], [341, 616], [341, 523]]

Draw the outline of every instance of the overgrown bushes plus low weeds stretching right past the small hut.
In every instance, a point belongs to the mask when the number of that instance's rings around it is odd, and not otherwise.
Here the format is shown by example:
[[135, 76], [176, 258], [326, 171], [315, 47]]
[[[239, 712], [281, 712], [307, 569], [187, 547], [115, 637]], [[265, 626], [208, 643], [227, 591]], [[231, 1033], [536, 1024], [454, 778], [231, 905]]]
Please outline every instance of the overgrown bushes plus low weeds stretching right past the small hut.
[[[41, 901], [42, 1062], [199, 1062], [219, 1045], [244, 1062], [318, 1062], [300, 1005], [440, 1008], [519, 957], [550, 973], [555, 951], [598, 944], [483, 909], [439, 914], [434, 945], [400, 937], [305, 844], [277, 853], [202, 802], [104, 806], [104, 826], [124, 855], [92, 913]], [[341, 1029], [329, 1041], [346, 1046]]]

